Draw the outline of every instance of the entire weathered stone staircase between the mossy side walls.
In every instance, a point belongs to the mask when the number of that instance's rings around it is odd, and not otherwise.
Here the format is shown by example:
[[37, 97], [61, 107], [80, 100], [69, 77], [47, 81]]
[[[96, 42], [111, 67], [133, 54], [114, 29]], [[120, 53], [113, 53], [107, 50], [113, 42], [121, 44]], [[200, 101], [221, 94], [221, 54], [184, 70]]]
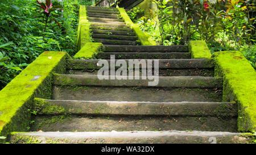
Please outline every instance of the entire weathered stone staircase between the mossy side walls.
[[[136, 46], [137, 37], [116, 9], [87, 7], [97, 58], [159, 59], [159, 83], [99, 80], [98, 60], [67, 62], [54, 74], [52, 98], [35, 100], [31, 131], [12, 143], [248, 143], [237, 132], [237, 104], [222, 102], [214, 61], [191, 59], [187, 46]], [[111, 32], [111, 33], [108, 33]], [[117, 60], [115, 60], [117, 61]], [[38, 132], [43, 131], [43, 132]], [[29, 137], [29, 138], [28, 138]]]

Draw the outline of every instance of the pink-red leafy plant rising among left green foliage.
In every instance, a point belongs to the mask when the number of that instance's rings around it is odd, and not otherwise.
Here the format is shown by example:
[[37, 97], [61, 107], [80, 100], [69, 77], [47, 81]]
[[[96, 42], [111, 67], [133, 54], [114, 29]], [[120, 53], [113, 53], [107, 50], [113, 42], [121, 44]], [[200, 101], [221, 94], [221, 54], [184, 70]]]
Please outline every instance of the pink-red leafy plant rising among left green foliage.
[[[44, 16], [44, 21], [45, 21], [45, 27], [44, 27], [44, 32], [46, 32], [46, 27], [47, 27], [47, 23], [48, 23], [48, 19], [51, 16], [51, 12], [55, 11], [55, 10], [59, 10], [62, 8], [61, 5], [52, 5], [51, 0], [38, 0], [36, 1], [36, 6], [40, 7], [41, 9], [43, 9], [42, 13]], [[56, 19], [52, 19], [55, 20], [55, 22], [57, 22]], [[58, 22], [57, 22], [58, 23]], [[58, 25], [60, 26], [60, 24], [58, 23]]]

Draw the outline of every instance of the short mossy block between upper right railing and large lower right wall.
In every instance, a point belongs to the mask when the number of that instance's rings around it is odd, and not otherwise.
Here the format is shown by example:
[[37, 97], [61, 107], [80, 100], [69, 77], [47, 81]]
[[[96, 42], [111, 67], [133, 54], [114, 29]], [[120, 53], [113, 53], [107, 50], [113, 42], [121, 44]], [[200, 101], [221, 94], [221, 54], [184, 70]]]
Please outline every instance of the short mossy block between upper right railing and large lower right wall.
[[210, 58], [212, 54], [203, 40], [191, 40], [188, 44], [188, 51], [191, 58]]

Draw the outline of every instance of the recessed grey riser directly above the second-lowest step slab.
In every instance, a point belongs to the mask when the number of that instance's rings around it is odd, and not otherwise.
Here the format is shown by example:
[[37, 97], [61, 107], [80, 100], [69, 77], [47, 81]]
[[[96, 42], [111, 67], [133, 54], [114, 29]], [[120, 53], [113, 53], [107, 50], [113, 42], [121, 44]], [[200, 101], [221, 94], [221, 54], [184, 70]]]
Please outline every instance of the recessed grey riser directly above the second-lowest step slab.
[[222, 89], [174, 87], [53, 86], [56, 100], [136, 102], [221, 102]]

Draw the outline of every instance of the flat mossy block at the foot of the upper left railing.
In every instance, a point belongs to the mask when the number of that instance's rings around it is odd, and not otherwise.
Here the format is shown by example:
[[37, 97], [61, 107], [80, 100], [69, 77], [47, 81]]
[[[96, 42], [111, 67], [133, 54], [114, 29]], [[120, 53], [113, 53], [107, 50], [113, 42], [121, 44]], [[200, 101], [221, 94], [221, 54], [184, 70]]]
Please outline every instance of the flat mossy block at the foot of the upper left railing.
[[101, 51], [102, 43], [86, 43], [74, 58], [94, 58]]

